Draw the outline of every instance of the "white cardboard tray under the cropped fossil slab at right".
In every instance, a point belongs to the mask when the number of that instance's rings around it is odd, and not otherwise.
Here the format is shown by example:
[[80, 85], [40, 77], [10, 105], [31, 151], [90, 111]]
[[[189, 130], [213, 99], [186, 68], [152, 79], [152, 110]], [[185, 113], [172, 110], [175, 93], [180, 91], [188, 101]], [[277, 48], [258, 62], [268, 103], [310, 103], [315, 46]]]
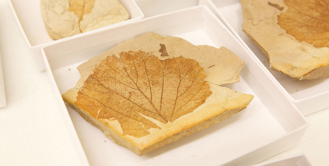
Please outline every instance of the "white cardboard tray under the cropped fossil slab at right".
[[242, 31], [242, 7], [240, 0], [212, 0], [217, 17], [231, 30], [240, 42], [259, 59], [274, 77], [289, 99], [297, 106], [303, 115], [329, 107], [329, 78], [316, 80], [298, 80], [269, 68], [269, 61], [258, 46]]

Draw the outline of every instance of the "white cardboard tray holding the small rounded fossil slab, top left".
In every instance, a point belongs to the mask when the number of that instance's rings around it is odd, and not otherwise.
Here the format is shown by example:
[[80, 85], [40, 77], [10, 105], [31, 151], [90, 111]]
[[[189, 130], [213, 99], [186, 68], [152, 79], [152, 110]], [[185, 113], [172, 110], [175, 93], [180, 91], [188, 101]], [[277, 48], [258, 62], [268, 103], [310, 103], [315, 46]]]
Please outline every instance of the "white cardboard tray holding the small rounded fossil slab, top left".
[[[135, 21], [144, 17], [144, 14], [141, 12], [134, 0], [119, 1], [129, 12], [130, 19], [103, 28], [118, 26], [120, 24], [129, 23], [131, 21]], [[9, 4], [14, 13], [19, 28], [21, 29], [23, 36], [31, 49], [32, 55], [34, 55], [35, 59], [38, 61], [39, 70], [44, 70], [41, 47], [52, 43], [54, 40], [49, 37], [44, 26], [44, 22], [40, 12], [40, 0], [9, 0]], [[83, 34], [93, 33], [98, 30], [99, 29], [92, 30]], [[83, 34], [78, 34], [77, 36]]]

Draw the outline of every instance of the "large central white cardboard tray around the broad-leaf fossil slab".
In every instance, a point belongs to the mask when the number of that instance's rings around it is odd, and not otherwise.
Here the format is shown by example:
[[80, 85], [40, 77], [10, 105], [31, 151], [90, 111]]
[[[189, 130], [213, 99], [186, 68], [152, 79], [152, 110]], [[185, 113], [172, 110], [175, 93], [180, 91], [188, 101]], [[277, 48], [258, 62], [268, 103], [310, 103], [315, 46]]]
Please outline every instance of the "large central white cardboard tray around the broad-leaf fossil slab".
[[[304, 116], [206, 6], [144, 18], [43, 47], [46, 70], [61, 103], [61, 94], [80, 78], [79, 64], [146, 32], [182, 37], [194, 45], [226, 46], [245, 61], [240, 83], [226, 86], [255, 98], [231, 118], [143, 156], [115, 144], [68, 106], [68, 124], [73, 122], [91, 165], [250, 165], [298, 144], [308, 126]], [[67, 110], [63, 109], [66, 116]]]

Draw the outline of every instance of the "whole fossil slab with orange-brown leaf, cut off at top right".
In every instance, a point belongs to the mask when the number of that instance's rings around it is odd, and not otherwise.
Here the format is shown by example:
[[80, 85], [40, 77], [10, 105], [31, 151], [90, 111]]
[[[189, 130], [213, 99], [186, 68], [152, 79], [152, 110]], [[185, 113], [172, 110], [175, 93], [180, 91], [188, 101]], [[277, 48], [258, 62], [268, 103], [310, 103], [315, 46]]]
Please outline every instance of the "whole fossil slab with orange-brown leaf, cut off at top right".
[[329, 76], [328, 0], [241, 0], [243, 31], [270, 68], [299, 80]]

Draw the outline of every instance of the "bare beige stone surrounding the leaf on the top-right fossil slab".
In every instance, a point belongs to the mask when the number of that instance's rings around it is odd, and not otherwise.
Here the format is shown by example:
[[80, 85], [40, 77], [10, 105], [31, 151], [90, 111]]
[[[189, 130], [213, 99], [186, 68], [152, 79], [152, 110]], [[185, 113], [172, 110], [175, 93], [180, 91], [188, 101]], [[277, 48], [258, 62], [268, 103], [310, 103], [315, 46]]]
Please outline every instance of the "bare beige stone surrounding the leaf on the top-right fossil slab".
[[[293, 8], [292, 2], [289, 3]], [[288, 10], [284, 0], [241, 0], [241, 5], [243, 31], [267, 56], [272, 69], [299, 80], [329, 76], [329, 48], [316, 48], [306, 42], [310, 42], [308, 39], [299, 41], [278, 24], [278, 16]], [[292, 21], [286, 19], [284, 23], [292, 26], [298, 19], [291, 14]], [[306, 29], [305, 33], [310, 31]]]

